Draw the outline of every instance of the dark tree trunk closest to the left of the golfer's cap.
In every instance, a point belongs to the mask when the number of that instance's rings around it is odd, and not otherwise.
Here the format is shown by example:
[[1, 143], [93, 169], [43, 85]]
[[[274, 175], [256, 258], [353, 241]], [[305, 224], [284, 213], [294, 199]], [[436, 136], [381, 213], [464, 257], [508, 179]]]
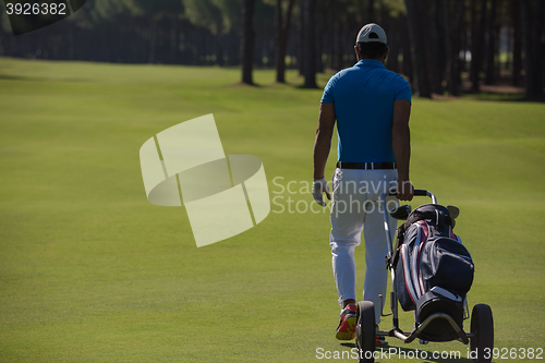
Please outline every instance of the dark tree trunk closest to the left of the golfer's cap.
[[304, 68], [303, 75], [305, 77], [305, 88], [317, 88], [316, 86], [316, 32], [315, 32], [315, 0], [303, 0], [304, 14]]

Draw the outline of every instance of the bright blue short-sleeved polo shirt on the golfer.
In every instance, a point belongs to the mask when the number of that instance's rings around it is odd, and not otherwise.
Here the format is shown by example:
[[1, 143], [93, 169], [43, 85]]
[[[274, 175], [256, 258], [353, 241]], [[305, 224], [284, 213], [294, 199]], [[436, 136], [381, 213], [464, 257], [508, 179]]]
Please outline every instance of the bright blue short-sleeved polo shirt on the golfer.
[[393, 101], [411, 101], [411, 87], [377, 60], [363, 59], [334, 75], [322, 96], [334, 104], [339, 135], [338, 160], [396, 161], [391, 148]]

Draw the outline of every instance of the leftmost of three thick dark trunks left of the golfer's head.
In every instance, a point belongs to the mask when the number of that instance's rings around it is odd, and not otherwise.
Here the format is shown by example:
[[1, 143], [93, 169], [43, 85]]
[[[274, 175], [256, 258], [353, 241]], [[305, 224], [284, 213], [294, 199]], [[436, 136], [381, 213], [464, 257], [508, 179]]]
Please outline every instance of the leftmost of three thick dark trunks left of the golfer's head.
[[255, 0], [243, 0], [242, 4], [242, 83], [254, 84], [253, 62], [254, 62], [254, 9]]

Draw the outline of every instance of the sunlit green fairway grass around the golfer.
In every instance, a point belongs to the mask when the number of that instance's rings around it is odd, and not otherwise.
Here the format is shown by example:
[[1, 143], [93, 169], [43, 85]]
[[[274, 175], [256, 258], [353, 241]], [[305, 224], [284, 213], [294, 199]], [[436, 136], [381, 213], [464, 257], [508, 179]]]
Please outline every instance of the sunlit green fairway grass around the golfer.
[[[326, 213], [272, 205], [257, 227], [197, 249], [183, 207], [145, 197], [141, 145], [214, 113], [227, 154], [263, 160], [271, 196], [312, 202], [272, 180], [310, 181], [320, 90], [291, 72], [291, 85], [274, 85], [272, 71], [255, 72], [261, 87], [239, 77], [0, 59], [1, 362], [316, 362], [338, 361], [317, 348], [350, 350], [334, 337]], [[413, 102], [413, 182], [460, 207], [470, 306], [492, 306], [498, 348], [545, 348], [544, 120], [543, 104]], [[401, 320], [410, 329], [412, 313]], [[467, 354], [459, 342], [388, 342]]]

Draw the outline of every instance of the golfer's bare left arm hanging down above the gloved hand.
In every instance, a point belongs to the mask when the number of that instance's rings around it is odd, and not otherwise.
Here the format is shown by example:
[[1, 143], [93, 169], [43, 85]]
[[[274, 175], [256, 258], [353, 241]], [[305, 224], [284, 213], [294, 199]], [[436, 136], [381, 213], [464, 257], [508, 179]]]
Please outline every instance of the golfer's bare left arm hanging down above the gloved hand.
[[335, 105], [320, 104], [318, 129], [314, 141], [314, 179], [324, 178], [327, 157], [331, 148], [331, 136], [335, 126]]

